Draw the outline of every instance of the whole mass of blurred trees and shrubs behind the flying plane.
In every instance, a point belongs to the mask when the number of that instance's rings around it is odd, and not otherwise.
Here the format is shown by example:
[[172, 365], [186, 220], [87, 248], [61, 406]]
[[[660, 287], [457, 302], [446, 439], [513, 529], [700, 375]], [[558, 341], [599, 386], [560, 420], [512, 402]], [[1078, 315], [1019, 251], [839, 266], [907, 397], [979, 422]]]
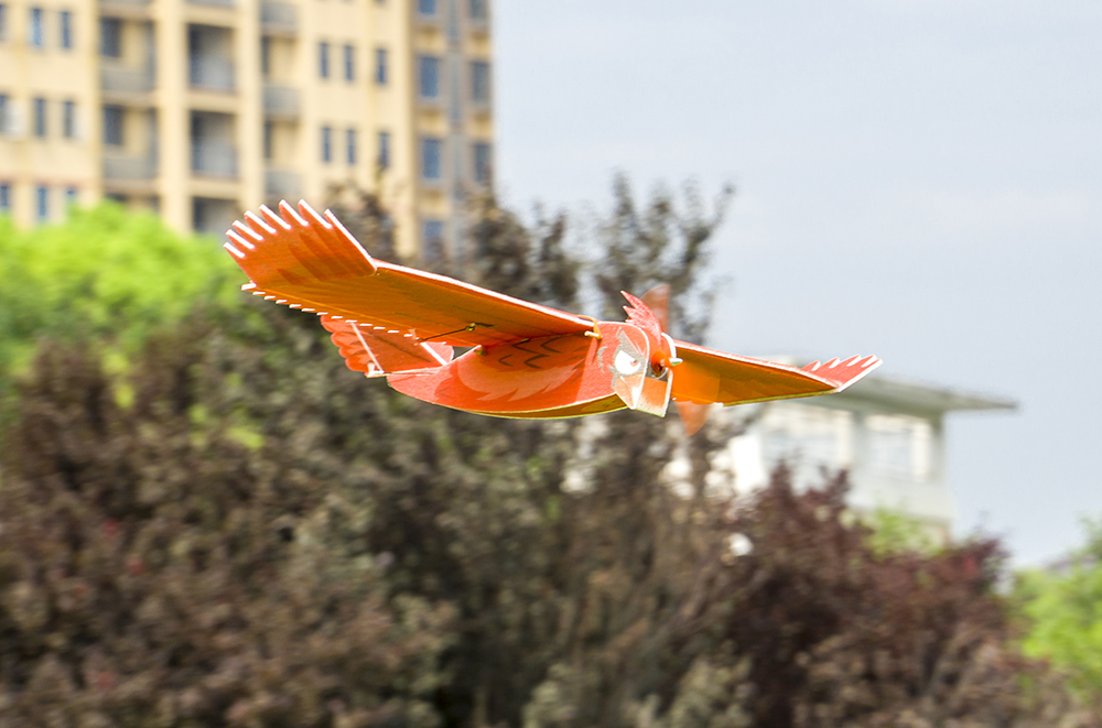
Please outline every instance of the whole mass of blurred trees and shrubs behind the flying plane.
[[[606, 315], [619, 290], [671, 282], [674, 329], [700, 340], [728, 198], [639, 204], [618, 181], [571, 245], [563, 217], [525, 224], [487, 197], [477, 256], [440, 267]], [[372, 198], [334, 202], [393, 259]], [[0, 226], [18, 380], [0, 726], [1102, 720], [1096, 559], [1007, 597], [997, 542], [931, 548], [903, 521], [855, 522], [844, 474], [705, 496], [722, 427], [687, 442], [634, 413], [494, 420], [365, 381], [312, 317], [236, 293], [213, 241], [152, 217]], [[663, 475], [678, 454], [688, 496]]]

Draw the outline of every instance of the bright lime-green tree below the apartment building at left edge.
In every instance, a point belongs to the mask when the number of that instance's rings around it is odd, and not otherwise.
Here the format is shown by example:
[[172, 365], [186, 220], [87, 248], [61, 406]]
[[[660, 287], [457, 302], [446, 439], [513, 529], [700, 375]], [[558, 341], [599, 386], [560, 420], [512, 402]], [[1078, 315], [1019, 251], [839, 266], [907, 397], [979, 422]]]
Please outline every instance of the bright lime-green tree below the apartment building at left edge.
[[199, 301], [238, 306], [239, 273], [213, 240], [183, 238], [114, 203], [21, 230], [0, 216], [0, 377], [42, 337], [111, 339], [128, 349]]

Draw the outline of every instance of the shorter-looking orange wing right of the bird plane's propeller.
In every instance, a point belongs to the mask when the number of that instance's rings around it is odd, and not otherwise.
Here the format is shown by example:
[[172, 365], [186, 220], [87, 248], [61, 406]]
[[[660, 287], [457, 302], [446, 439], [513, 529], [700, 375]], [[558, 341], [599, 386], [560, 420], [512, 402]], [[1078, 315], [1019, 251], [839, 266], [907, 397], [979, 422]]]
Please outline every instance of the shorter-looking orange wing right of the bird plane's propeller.
[[671, 396], [679, 402], [745, 404], [840, 392], [880, 365], [876, 357], [818, 361], [799, 369], [677, 341]]

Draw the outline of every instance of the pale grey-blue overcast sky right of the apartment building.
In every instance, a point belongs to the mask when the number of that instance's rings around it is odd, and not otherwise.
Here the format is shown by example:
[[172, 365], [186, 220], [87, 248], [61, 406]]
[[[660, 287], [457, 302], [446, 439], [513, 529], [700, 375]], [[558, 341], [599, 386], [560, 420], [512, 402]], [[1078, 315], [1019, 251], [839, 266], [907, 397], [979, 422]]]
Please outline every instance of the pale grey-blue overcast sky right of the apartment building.
[[1020, 403], [950, 415], [959, 531], [1102, 515], [1102, 2], [497, 0], [506, 202], [737, 187], [711, 343]]

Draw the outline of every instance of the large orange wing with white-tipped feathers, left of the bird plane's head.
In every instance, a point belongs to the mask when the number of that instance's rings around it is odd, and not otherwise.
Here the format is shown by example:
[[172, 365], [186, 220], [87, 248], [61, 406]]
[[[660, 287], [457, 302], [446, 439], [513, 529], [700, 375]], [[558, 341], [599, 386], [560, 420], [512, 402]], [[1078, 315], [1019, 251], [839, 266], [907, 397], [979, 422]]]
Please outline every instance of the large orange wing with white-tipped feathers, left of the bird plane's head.
[[[372, 259], [326, 210], [285, 202], [261, 207], [226, 233], [228, 250], [255, 295], [333, 322], [367, 323], [417, 341], [493, 346], [554, 334], [581, 334], [585, 318], [444, 275]], [[332, 330], [332, 329], [331, 329]]]

